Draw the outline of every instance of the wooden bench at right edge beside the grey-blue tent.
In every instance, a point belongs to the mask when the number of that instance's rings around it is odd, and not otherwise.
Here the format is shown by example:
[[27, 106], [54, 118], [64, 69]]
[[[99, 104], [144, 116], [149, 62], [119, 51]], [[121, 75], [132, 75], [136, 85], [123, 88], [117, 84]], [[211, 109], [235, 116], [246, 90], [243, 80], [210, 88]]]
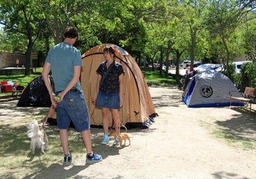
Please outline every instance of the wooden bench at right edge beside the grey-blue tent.
[[250, 110], [252, 108], [252, 103], [256, 102], [256, 88], [255, 87], [246, 87], [246, 90], [243, 92], [242, 97], [232, 96], [232, 92], [229, 92], [229, 98], [236, 101], [241, 101], [243, 103], [250, 103]]

